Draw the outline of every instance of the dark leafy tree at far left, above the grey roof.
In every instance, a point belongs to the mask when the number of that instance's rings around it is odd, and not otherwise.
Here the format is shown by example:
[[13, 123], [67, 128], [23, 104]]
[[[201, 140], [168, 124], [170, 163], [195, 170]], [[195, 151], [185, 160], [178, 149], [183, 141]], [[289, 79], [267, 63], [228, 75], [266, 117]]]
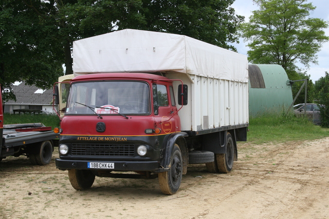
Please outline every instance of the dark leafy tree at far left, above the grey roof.
[[3, 99], [15, 99], [10, 86], [15, 81], [46, 89], [63, 73], [62, 62], [49, 46], [51, 31], [24, 4], [0, 1], [0, 84]]

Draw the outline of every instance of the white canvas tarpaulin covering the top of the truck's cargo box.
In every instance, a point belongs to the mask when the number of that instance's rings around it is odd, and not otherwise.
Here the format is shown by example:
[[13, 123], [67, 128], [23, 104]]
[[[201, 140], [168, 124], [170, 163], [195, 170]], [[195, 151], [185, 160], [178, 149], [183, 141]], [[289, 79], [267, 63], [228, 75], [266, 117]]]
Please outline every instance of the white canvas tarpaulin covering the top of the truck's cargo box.
[[73, 44], [75, 76], [100, 72], [182, 72], [248, 82], [247, 56], [184, 35], [125, 29]]

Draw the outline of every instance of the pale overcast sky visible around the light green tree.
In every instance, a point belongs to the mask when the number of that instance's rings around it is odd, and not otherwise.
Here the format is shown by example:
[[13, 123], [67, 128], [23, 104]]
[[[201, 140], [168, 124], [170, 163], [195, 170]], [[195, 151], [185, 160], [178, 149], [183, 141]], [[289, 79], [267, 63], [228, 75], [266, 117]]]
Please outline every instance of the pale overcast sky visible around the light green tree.
[[[316, 7], [314, 11], [310, 12], [310, 17], [322, 18], [324, 21], [329, 21], [328, 0], [308, 0], [307, 3], [312, 3]], [[245, 21], [248, 21], [251, 11], [257, 10], [258, 6], [252, 0], [235, 0], [232, 8], [235, 9], [236, 14], [245, 16]], [[329, 28], [325, 29], [325, 34], [329, 36]], [[240, 44], [233, 45], [236, 47], [237, 52], [247, 55], [249, 47], [246, 47], [242, 39], [240, 40]], [[324, 76], [325, 71], [329, 72], [329, 43], [323, 44], [321, 51], [317, 55], [319, 65], [311, 65], [307, 71], [313, 83]]]

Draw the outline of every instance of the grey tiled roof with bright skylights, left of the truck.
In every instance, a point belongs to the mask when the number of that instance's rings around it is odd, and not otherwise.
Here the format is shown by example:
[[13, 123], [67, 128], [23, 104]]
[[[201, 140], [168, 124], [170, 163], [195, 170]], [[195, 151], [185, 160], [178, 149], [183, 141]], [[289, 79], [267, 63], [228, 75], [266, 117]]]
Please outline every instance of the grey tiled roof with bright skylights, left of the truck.
[[7, 101], [4, 104], [20, 104], [20, 105], [51, 105], [52, 89], [44, 90], [32, 85], [26, 85], [25, 82], [15, 83], [11, 86], [13, 93], [16, 95], [15, 101]]

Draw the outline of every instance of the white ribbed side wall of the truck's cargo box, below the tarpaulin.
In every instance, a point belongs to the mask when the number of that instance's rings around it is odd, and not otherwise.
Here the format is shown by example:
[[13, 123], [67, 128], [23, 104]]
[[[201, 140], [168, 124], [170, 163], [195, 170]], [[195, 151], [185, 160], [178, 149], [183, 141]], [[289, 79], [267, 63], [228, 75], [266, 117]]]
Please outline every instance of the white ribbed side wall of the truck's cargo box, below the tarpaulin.
[[[188, 85], [188, 105], [178, 112], [182, 131], [249, 123], [248, 83], [183, 73], [167, 73], [165, 76], [181, 79]], [[179, 82], [174, 82], [176, 96], [178, 85]]]

